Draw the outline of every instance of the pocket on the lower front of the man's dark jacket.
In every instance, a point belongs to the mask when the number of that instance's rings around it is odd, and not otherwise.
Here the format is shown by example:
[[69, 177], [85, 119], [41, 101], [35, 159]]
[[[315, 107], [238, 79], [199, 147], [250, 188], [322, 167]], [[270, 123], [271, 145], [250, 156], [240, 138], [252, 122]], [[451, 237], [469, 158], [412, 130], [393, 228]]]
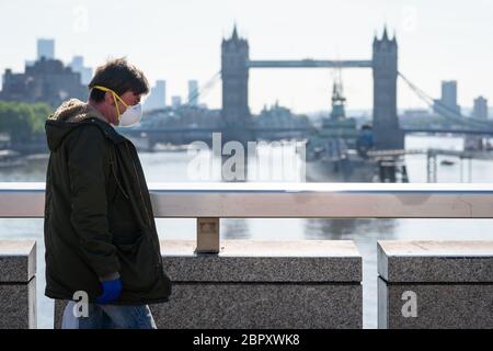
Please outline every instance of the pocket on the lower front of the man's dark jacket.
[[158, 262], [151, 238], [146, 233], [133, 244], [114, 242], [119, 259], [124, 291], [145, 293], [153, 288], [158, 280]]

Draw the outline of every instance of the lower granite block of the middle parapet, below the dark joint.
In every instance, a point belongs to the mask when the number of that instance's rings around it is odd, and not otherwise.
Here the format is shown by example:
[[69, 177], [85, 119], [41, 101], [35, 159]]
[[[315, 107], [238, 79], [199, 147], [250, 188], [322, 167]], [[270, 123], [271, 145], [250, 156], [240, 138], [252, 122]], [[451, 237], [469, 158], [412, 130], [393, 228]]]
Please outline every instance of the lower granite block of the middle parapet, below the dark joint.
[[[66, 302], [55, 304], [60, 328]], [[363, 327], [360, 284], [175, 283], [169, 303], [150, 305], [160, 329]]]

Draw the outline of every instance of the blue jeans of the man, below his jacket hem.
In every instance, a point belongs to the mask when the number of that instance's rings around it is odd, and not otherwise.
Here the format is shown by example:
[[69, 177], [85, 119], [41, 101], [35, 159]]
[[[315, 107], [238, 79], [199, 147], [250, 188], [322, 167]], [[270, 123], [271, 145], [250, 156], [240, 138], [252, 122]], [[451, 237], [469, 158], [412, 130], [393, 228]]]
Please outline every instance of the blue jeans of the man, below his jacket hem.
[[147, 305], [89, 304], [88, 317], [77, 317], [74, 306], [69, 301], [65, 307], [61, 329], [156, 329]]

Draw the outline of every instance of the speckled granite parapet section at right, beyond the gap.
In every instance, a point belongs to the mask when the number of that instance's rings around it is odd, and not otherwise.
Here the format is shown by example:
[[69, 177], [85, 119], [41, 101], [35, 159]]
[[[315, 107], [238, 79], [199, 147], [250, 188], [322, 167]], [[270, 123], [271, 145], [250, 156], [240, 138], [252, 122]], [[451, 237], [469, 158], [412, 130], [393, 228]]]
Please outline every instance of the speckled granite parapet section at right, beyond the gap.
[[493, 328], [493, 241], [379, 241], [379, 328]]

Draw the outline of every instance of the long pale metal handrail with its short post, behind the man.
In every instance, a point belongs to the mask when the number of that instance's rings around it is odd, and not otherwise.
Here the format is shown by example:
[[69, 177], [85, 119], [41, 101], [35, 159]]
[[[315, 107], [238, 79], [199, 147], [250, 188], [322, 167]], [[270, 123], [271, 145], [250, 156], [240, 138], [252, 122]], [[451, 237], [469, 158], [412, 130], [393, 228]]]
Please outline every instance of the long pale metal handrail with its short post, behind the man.
[[[493, 218], [493, 183], [148, 183], [154, 216], [197, 218], [197, 250], [219, 250], [219, 218]], [[45, 184], [0, 182], [0, 217], [43, 217]], [[203, 245], [202, 245], [203, 244]]]

